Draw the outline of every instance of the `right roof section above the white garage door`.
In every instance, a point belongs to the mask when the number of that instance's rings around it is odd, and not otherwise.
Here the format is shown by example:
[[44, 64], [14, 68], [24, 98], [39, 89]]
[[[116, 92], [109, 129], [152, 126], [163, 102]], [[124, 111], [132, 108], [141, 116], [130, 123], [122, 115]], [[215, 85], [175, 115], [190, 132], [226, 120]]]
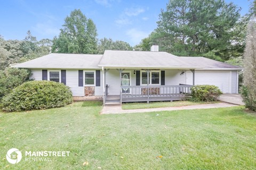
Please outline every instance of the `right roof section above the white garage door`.
[[205, 57], [179, 57], [179, 58], [191, 64], [200, 64], [200, 66], [203, 67], [202, 69], [209, 69], [209, 70], [211, 69], [242, 70], [243, 69], [242, 67], [239, 67], [239, 66], [218, 62]]

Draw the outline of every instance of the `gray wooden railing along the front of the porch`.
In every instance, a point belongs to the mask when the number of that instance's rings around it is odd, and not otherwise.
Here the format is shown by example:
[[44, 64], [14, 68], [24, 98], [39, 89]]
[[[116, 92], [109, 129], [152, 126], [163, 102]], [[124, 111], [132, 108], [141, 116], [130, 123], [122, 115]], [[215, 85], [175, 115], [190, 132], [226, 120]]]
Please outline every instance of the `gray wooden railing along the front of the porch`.
[[180, 100], [191, 94], [191, 85], [177, 86], [121, 86], [121, 101]]

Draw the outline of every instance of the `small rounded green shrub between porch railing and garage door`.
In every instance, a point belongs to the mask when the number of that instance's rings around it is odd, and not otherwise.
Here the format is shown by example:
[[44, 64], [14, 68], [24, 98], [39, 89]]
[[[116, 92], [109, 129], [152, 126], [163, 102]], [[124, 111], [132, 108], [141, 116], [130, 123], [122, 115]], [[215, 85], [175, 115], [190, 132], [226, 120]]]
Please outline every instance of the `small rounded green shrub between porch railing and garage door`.
[[191, 88], [193, 101], [216, 101], [221, 94], [220, 89], [213, 85], [196, 85]]

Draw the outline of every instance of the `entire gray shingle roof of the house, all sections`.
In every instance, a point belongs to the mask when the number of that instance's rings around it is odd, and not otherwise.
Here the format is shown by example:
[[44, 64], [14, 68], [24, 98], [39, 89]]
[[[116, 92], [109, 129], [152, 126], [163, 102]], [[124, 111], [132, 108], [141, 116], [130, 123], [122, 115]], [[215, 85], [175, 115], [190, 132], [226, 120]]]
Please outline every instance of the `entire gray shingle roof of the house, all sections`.
[[103, 55], [52, 53], [13, 67], [28, 69], [212, 69], [242, 70], [241, 67], [210, 60], [204, 57], [178, 57], [166, 52], [138, 52], [105, 50]]

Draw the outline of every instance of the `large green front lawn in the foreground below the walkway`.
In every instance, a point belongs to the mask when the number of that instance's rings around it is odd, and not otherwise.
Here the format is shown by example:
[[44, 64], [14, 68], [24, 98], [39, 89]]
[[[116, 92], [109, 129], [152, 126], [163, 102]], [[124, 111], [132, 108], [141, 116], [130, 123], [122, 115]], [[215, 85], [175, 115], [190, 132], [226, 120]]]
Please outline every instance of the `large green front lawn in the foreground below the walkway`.
[[[79, 102], [45, 111], [0, 112], [0, 169], [256, 167], [256, 116], [243, 107], [100, 115], [101, 108], [101, 103]], [[5, 160], [10, 148], [22, 154], [70, 151], [70, 156], [25, 162], [23, 154], [12, 165]]]

